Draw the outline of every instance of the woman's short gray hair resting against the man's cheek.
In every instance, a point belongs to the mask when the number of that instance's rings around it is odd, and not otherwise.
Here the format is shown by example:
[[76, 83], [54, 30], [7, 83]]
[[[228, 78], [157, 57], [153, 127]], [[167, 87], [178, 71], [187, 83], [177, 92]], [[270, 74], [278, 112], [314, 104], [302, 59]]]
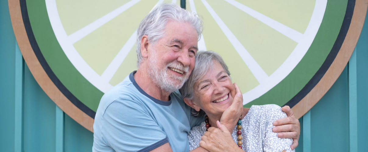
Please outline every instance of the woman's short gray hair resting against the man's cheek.
[[[194, 69], [192, 70], [192, 73], [190, 74], [187, 82], [185, 82], [183, 87], [179, 89], [183, 98], [193, 99], [194, 83], [201, 80], [208, 71], [211, 71], [213, 69], [214, 61], [219, 62], [227, 75], [230, 76], [229, 68], [227, 68], [227, 65], [225, 64], [220, 54], [213, 51], [198, 51], [195, 55]], [[200, 111], [195, 111], [195, 109], [192, 109], [191, 113], [193, 116], [196, 117], [205, 115], [205, 112], [202, 109]]]

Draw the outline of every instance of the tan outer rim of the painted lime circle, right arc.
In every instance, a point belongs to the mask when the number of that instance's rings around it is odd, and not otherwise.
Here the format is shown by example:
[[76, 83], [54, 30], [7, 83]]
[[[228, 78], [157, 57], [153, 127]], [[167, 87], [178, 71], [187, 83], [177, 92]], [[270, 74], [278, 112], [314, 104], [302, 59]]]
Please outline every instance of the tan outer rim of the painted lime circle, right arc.
[[367, 7], [368, 0], [355, 1], [354, 14], [351, 18], [350, 27], [335, 60], [317, 85], [291, 108], [298, 119], [307, 113], [327, 93], [343, 72], [351, 54], [353, 54], [355, 45], [357, 45], [360, 32], [364, 25], [365, 15], [367, 14]]

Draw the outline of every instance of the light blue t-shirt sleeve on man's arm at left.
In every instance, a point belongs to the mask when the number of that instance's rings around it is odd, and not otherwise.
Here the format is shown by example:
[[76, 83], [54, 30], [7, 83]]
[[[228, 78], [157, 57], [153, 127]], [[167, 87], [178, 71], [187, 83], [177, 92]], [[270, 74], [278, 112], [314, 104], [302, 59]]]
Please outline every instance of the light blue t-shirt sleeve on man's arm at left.
[[119, 98], [103, 113], [102, 137], [115, 151], [146, 152], [166, 142], [166, 134], [145, 107]]

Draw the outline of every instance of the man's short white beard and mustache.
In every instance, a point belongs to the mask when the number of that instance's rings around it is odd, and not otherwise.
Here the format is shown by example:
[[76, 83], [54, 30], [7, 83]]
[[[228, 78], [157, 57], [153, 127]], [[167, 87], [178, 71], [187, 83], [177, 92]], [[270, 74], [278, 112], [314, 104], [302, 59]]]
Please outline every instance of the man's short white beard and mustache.
[[[188, 80], [189, 67], [184, 67], [180, 62], [173, 61], [166, 65], [165, 69], [160, 69], [157, 66], [158, 57], [156, 52], [152, 50], [152, 58], [148, 61], [148, 76], [153, 80], [153, 82], [158, 85], [162, 90], [169, 93], [178, 90], [183, 86], [183, 84]], [[184, 76], [180, 77], [173, 75], [171, 69], [168, 67], [175, 68], [184, 71]]]

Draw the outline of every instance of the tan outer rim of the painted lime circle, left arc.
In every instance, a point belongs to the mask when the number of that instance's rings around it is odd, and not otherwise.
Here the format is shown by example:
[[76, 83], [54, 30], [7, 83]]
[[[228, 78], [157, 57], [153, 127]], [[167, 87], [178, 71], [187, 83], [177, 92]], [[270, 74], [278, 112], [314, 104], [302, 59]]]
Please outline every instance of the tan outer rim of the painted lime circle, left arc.
[[93, 132], [93, 122], [95, 119], [81, 111], [77, 106], [65, 97], [63, 93], [51, 81], [45, 70], [38, 61], [24, 27], [22, 12], [19, 0], [8, 0], [11, 24], [13, 25], [15, 39], [23, 55], [24, 61], [29, 70], [43, 91], [60, 107], [67, 115], [83, 127]]

